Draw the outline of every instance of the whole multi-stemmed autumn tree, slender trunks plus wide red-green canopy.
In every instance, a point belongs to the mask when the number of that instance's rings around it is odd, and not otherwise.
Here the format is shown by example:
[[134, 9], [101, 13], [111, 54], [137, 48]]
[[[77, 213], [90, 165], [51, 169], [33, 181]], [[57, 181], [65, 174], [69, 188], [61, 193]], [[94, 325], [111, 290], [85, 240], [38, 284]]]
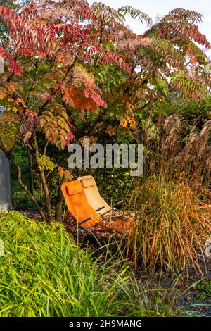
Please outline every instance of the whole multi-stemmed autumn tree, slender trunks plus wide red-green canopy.
[[[18, 15], [0, 8], [1, 20], [8, 23], [7, 44], [0, 48], [8, 61], [0, 87], [7, 106], [1, 149], [18, 168], [20, 185], [44, 220], [53, 218], [52, 200], [61, 219], [60, 185], [71, 177], [60, 167], [67, 158], [62, 151], [74, 139], [102, 134], [108, 139], [123, 129], [139, 141], [143, 111], [151, 104], [172, 94], [200, 101], [209, 93], [207, 57], [198, 44], [210, 44], [198, 30], [200, 14], [175, 9], [143, 35], [126, 26], [125, 15], [151, 25], [148, 15], [130, 6], [114, 10], [81, 0], [37, 0]], [[30, 150], [39, 170], [44, 206], [21, 180], [11, 154], [17, 142]], [[60, 173], [56, 195], [49, 191], [55, 172]]]

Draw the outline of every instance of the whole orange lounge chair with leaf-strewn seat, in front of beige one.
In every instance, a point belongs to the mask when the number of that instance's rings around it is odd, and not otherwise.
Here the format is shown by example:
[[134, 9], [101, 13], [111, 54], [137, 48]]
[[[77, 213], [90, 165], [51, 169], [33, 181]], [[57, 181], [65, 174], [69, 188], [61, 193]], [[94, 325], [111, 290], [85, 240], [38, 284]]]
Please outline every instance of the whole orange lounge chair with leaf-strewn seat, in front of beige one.
[[[61, 187], [63, 196], [68, 206], [68, 211], [77, 220], [78, 226], [84, 231], [92, 235], [96, 241], [98, 239], [94, 232], [115, 231], [120, 234], [130, 233], [131, 220], [107, 221], [97, 213], [103, 210], [103, 206], [96, 208], [96, 210], [89, 205], [87, 197], [84, 193], [84, 188], [79, 180], [64, 183]], [[98, 242], [101, 246], [101, 244]]]

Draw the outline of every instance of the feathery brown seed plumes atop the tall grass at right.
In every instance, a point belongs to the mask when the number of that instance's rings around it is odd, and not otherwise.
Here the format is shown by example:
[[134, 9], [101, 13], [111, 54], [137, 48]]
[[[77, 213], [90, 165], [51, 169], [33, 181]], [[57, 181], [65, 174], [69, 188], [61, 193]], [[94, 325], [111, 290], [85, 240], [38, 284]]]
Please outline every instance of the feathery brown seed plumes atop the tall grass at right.
[[149, 121], [143, 130], [142, 142], [146, 150], [146, 176], [180, 180], [194, 190], [209, 189], [211, 180], [211, 120], [198, 130], [197, 120], [188, 135], [183, 130], [187, 123], [180, 115], [170, 115], [158, 126], [158, 135], [151, 134]]

